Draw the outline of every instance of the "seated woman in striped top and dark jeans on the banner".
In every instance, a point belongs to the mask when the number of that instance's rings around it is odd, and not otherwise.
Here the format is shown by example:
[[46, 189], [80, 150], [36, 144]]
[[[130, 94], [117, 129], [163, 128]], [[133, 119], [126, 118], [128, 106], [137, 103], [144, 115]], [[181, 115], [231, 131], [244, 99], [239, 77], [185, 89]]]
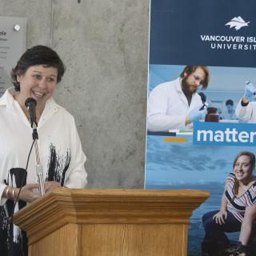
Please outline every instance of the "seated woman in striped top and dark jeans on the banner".
[[211, 250], [210, 253], [216, 255], [213, 250], [221, 250], [229, 243], [229, 239], [224, 232], [237, 231], [240, 231], [240, 236], [236, 250], [246, 250], [253, 222], [256, 218], [254, 167], [255, 156], [250, 152], [241, 152], [234, 158], [234, 170], [226, 179], [221, 209], [211, 211], [202, 217], [202, 223], [206, 231], [202, 243], [203, 251], [208, 247]]

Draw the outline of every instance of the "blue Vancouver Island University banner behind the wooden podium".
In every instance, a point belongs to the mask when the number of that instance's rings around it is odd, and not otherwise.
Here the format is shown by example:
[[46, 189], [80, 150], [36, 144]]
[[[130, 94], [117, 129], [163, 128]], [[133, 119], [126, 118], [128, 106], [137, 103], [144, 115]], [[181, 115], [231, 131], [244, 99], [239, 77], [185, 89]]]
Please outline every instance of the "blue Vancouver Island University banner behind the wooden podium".
[[145, 188], [210, 192], [190, 218], [190, 256], [256, 255], [255, 7], [150, 3]]

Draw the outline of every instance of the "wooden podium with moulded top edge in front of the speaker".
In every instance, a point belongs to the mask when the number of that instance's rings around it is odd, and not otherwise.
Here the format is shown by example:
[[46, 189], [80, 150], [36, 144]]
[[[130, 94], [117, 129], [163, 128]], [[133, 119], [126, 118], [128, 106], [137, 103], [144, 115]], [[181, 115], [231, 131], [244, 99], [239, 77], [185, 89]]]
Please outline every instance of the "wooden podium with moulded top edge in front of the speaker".
[[30, 256], [186, 256], [202, 190], [59, 188], [14, 215]]

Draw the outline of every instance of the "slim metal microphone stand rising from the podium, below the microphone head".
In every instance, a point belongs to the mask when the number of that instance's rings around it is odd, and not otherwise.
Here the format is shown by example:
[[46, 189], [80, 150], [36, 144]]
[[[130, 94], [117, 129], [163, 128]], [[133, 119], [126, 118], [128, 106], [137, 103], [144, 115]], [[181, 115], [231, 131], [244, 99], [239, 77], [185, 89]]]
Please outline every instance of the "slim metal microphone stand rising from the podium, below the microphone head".
[[33, 128], [32, 137], [34, 139], [34, 150], [35, 150], [35, 160], [36, 160], [35, 168], [38, 176], [38, 189], [42, 196], [43, 194], [45, 194], [45, 188], [43, 184], [42, 163], [41, 163], [41, 158], [40, 158], [39, 148], [38, 148], [38, 131], [37, 131], [37, 125], [35, 122], [33, 122], [32, 128]]

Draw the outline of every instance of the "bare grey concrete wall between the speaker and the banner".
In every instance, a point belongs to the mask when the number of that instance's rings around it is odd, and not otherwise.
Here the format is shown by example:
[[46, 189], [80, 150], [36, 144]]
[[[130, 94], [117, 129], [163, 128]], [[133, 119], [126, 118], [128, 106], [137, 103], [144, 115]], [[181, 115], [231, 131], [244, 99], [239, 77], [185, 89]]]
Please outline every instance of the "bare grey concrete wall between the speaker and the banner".
[[143, 186], [149, 2], [0, 0], [0, 15], [27, 18], [27, 48], [66, 63], [54, 98], [74, 114], [89, 187]]

